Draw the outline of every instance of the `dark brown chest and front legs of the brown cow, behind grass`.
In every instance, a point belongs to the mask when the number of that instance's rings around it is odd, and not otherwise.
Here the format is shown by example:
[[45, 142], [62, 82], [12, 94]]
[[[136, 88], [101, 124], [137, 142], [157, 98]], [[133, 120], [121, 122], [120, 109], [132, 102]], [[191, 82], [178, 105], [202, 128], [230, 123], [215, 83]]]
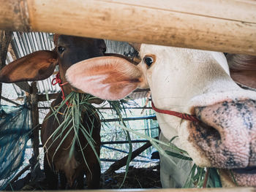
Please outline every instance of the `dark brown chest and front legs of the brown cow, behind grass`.
[[[59, 95], [58, 99], [53, 101], [51, 104], [52, 107], [55, 107], [56, 105], [60, 104], [62, 101], [61, 95]], [[64, 113], [64, 110], [67, 106], [61, 108], [59, 113], [57, 114], [57, 118], [59, 122], [63, 122], [64, 116], [62, 113]], [[83, 188], [83, 182], [78, 182], [78, 185], [75, 186], [74, 181], [78, 180], [79, 177], [83, 177], [83, 174], [86, 174], [86, 180], [88, 188], [99, 188], [99, 178], [100, 178], [100, 166], [99, 162], [97, 160], [96, 155], [94, 154], [94, 151], [91, 149], [91, 147], [88, 145], [88, 142], [85, 137], [83, 137], [83, 134], [79, 134], [79, 140], [84, 147], [83, 154], [85, 154], [86, 157], [86, 163], [85, 164], [83, 160], [82, 153], [79, 152], [80, 147], [76, 145], [75, 147], [77, 150], [72, 155], [71, 159], [69, 159], [69, 150], [72, 144], [72, 139], [74, 137], [74, 131], [71, 131], [68, 135], [68, 137], [64, 140], [64, 142], [61, 144], [61, 147], [58, 146], [61, 143], [61, 140], [64, 138], [64, 135], [67, 134], [67, 130], [69, 130], [70, 126], [62, 133], [62, 136], [59, 137], [59, 139], [56, 139], [55, 142], [53, 142], [53, 138], [51, 137], [54, 131], [56, 131], [56, 128], [58, 128], [59, 123], [56, 120], [56, 117], [52, 115], [52, 112], [49, 112], [48, 115], [45, 117], [44, 122], [42, 123], [42, 131], [41, 131], [41, 139], [42, 144], [45, 145], [45, 169], [46, 170], [53, 170], [53, 172], [63, 172], [67, 178], [67, 183], [69, 183], [69, 187], [72, 188]], [[48, 118], [50, 116], [50, 118]], [[91, 128], [93, 128], [92, 132], [92, 138], [96, 142], [95, 148], [97, 151], [97, 154], [99, 155], [100, 150], [100, 121], [99, 116], [97, 113], [93, 114], [86, 114], [86, 112], [83, 112], [82, 114], [83, 119], [83, 126], [87, 129], [87, 131], [90, 131]], [[90, 119], [90, 120], [89, 120]], [[90, 122], [94, 122], [94, 125], [91, 125]], [[61, 131], [59, 131], [56, 135], [61, 134]], [[48, 140], [49, 139], [49, 140]], [[86, 145], [88, 145], [86, 147]], [[56, 152], [56, 149], [57, 152]], [[47, 167], [50, 166], [50, 167]], [[57, 175], [54, 175], [53, 172], [45, 172], [45, 176], [47, 177], [49, 186], [53, 187], [53, 189], [56, 189], [56, 186], [53, 185], [53, 177], [56, 177]], [[66, 184], [62, 184], [61, 188], [66, 188]]]

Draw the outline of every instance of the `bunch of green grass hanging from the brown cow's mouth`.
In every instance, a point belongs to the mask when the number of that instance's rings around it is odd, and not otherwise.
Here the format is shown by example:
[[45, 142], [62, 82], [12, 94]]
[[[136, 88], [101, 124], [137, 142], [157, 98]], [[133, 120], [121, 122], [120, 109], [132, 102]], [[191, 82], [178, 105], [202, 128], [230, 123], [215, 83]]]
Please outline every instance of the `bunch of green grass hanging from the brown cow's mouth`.
[[[75, 144], [77, 144], [83, 155], [83, 161], [86, 163], [87, 166], [88, 164], [86, 162], [86, 156], [85, 156], [86, 154], [83, 153], [83, 150], [88, 145], [94, 151], [99, 161], [99, 155], [97, 154], [97, 151], [95, 149], [96, 143], [92, 138], [92, 131], [94, 127], [91, 126], [91, 128], [87, 130], [83, 126], [83, 123], [86, 123], [87, 124], [86, 126], [94, 125], [93, 121], [95, 118], [97, 118], [97, 110], [90, 103], [91, 99], [94, 99], [94, 97], [86, 94], [72, 92], [72, 93], [69, 93], [65, 101], [62, 101], [58, 107], [54, 107], [50, 109], [53, 112], [52, 115], [54, 115], [55, 119], [58, 121], [59, 126], [58, 128], [56, 128], [56, 130], [53, 132], [53, 134], [49, 139], [53, 140], [52, 142], [52, 145], [53, 145], [53, 143], [56, 142], [57, 139], [61, 138], [61, 142], [59, 142], [58, 147], [56, 147], [53, 158], [56, 155], [56, 152], [59, 150], [59, 147], [61, 147], [61, 144], [64, 142], [65, 139], [67, 139], [68, 135], [73, 134], [73, 139], [69, 148], [69, 160], [71, 159], [72, 155], [75, 153]], [[69, 101], [69, 107], [67, 107], [66, 101]], [[65, 107], [64, 112], [61, 112], [62, 107]], [[85, 112], [87, 113], [87, 115], [91, 117], [91, 118], [88, 118], [90, 122], [83, 122], [82, 114]], [[57, 118], [58, 113], [63, 115], [61, 122]], [[50, 118], [50, 116], [48, 118]], [[86, 146], [82, 146], [78, 133], [81, 133], [83, 137], [87, 140], [88, 144]]]

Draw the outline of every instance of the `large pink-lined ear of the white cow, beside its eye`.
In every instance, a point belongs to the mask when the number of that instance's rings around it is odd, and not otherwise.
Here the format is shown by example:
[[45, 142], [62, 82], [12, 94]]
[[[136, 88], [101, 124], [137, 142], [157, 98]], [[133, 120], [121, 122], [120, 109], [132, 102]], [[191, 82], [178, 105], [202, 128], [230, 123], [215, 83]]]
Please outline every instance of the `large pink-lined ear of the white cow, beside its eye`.
[[75, 88], [106, 100], [123, 99], [144, 85], [139, 66], [113, 56], [80, 61], [67, 69], [66, 78]]

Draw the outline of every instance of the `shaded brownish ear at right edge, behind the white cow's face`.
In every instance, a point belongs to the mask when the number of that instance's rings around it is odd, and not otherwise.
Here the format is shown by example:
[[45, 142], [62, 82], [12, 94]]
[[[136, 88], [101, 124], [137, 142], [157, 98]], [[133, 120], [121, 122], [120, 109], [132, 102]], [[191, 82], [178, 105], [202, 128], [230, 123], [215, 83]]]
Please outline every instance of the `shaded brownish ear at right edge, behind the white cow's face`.
[[227, 54], [227, 62], [234, 81], [256, 89], [256, 56]]

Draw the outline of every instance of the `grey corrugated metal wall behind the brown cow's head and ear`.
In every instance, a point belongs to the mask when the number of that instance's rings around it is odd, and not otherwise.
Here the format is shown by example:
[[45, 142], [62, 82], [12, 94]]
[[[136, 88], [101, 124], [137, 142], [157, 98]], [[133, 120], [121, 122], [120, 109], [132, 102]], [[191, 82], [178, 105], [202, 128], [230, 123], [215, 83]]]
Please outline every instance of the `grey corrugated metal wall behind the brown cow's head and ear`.
[[[135, 53], [135, 50], [127, 42], [116, 42], [105, 40], [107, 45], [107, 53], [118, 53], [122, 55], [132, 55]], [[47, 33], [38, 33], [38, 32], [14, 32], [12, 38], [12, 49], [17, 58], [33, 53], [37, 50], [53, 50], [53, 34]], [[8, 52], [7, 55], [7, 64], [12, 62], [15, 58], [12, 57], [12, 54]], [[50, 76], [47, 80], [42, 80], [37, 82], [37, 88], [39, 94], [41, 93], [57, 93], [60, 91], [59, 86], [51, 85], [51, 80], [53, 80], [54, 75]], [[14, 85], [15, 91], [18, 95], [24, 96], [25, 92], [22, 91], [18, 86]]]

